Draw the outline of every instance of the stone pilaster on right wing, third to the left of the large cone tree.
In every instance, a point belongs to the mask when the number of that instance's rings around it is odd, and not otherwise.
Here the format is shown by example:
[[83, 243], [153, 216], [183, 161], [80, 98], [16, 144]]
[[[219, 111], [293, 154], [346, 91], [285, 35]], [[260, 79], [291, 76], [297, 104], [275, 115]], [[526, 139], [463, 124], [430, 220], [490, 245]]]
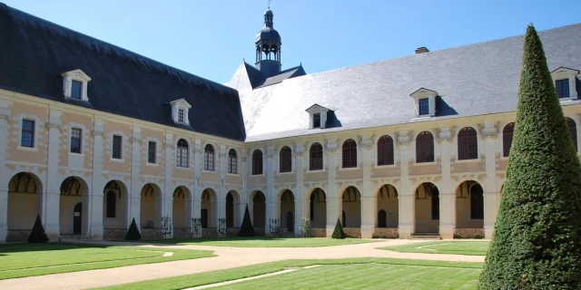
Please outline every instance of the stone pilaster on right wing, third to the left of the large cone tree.
[[414, 160], [408, 131], [399, 131], [399, 238], [407, 238], [414, 232], [415, 192], [409, 180], [409, 163]]

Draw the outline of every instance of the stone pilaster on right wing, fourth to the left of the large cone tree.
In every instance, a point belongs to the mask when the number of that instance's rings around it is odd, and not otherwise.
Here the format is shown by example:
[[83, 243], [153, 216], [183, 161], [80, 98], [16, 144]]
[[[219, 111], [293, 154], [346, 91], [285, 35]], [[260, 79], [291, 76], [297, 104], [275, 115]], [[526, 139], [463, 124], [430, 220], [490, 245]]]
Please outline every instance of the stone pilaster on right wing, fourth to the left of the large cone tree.
[[361, 169], [363, 170], [363, 185], [361, 187], [361, 238], [373, 237], [375, 231], [375, 219], [377, 217], [378, 198], [371, 189], [371, 167], [373, 167], [373, 156], [375, 146], [369, 136], [361, 139]]

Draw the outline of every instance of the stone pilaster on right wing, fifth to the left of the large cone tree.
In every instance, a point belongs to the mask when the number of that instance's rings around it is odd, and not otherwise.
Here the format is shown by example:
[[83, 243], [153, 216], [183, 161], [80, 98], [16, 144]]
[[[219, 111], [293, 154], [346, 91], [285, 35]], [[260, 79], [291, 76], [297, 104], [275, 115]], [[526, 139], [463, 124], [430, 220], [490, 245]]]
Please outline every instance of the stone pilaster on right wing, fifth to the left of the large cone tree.
[[342, 218], [342, 198], [335, 187], [337, 178], [337, 140], [327, 140], [327, 237], [331, 237], [337, 218]]

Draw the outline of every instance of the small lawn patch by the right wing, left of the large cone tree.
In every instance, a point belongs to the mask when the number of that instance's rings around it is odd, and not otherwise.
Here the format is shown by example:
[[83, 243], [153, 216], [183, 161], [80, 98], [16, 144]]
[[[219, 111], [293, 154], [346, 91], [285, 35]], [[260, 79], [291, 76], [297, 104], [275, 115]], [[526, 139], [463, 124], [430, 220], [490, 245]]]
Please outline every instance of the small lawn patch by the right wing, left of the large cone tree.
[[486, 256], [490, 242], [434, 241], [401, 246], [380, 247], [380, 249], [402, 253], [458, 254]]

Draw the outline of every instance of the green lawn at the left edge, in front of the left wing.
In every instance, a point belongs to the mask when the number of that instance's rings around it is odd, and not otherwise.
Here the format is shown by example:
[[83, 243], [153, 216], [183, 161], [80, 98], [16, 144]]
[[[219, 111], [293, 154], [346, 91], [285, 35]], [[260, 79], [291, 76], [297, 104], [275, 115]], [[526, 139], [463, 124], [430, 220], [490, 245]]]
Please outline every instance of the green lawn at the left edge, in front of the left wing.
[[[172, 252], [173, 256], [163, 256]], [[0, 279], [214, 256], [212, 251], [47, 243], [0, 246]]]

